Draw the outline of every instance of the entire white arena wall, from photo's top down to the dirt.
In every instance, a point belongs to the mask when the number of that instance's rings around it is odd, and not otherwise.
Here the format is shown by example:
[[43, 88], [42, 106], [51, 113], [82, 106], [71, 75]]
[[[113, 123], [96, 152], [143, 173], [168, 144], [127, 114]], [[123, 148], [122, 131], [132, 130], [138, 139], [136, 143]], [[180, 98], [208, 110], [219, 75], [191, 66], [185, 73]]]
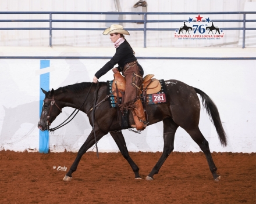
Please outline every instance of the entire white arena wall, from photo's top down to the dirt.
[[[131, 12], [138, 0], [119, 0], [119, 12]], [[240, 12], [255, 11], [256, 0], [146, 0], [147, 12]], [[112, 0], [1, 0], [0, 12], [110, 12], [115, 11]], [[138, 10], [140, 11], [140, 10]], [[256, 19], [247, 14], [246, 19]], [[190, 15], [148, 16], [148, 20], [184, 19]], [[243, 19], [242, 14], [211, 15], [210, 19]], [[49, 19], [47, 14], [0, 14], [0, 19]], [[105, 20], [105, 15], [54, 14], [53, 19]], [[123, 16], [123, 20], [131, 15]], [[183, 23], [148, 23], [148, 28], [179, 28]], [[242, 23], [218, 22], [218, 27], [242, 27]], [[48, 27], [49, 23], [0, 22], [0, 27]], [[106, 28], [105, 23], [53, 23], [53, 27]], [[143, 24], [123, 23], [125, 28], [143, 28]], [[246, 27], [256, 27], [249, 22]], [[216, 41], [177, 40], [175, 31], [147, 31], [147, 48], [143, 48], [143, 31], [130, 31], [127, 40], [136, 56], [159, 57], [255, 57], [254, 30], [246, 31], [246, 48], [242, 46], [242, 31], [227, 30], [225, 38]], [[113, 56], [115, 48], [102, 31], [52, 31], [49, 48], [48, 30], [1, 30], [0, 56]], [[91, 82], [95, 72], [107, 59], [50, 59], [49, 68], [40, 70], [39, 59], [0, 59], [0, 150], [38, 151], [40, 117], [40, 75], [49, 72], [50, 88], [58, 89], [77, 82]], [[216, 103], [228, 136], [227, 147], [219, 143], [215, 127], [201, 108], [200, 129], [209, 141], [211, 151], [255, 152], [255, 60], [138, 60], [144, 74], [158, 79], [177, 79], [201, 89]], [[110, 72], [100, 81], [113, 79]], [[72, 112], [64, 108], [52, 126], [59, 125]], [[77, 152], [91, 132], [86, 114], [80, 112], [72, 122], [50, 133], [51, 152]], [[148, 126], [141, 134], [123, 130], [129, 151], [162, 151], [162, 122]], [[110, 134], [98, 143], [100, 152], [117, 152]], [[91, 148], [92, 150], [92, 148]], [[89, 150], [89, 151], [91, 151]], [[93, 150], [95, 151], [95, 149]], [[200, 148], [182, 128], [175, 137], [175, 150], [198, 152]]]

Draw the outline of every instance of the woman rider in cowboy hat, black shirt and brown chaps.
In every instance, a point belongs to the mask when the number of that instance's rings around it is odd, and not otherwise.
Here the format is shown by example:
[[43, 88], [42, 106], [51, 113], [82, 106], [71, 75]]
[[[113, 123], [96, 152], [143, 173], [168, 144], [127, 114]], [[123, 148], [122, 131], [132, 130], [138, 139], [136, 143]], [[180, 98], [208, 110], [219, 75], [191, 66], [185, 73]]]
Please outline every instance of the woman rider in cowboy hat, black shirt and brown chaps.
[[122, 72], [126, 78], [125, 99], [119, 105], [120, 110], [131, 110], [135, 125], [131, 127], [137, 130], [144, 130], [145, 113], [139, 95], [141, 93], [140, 87], [142, 85], [142, 77], [144, 74], [143, 68], [138, 64], [134, 51], [129, 42], [126, 41], [123, 35], [130, 35], [128, 31], [123, 29], [122, 25], [113, 24], [106, 28], [104, 35], [110, 35], [111, 41], [114, 43], [116, 53], [108, 63], [106, 63], [99, 71], [96, 72], [93, 82], [97, 83], [98, 79], [111, 70], [116, 64], [118, 67], [113, 68], [114, 73]]

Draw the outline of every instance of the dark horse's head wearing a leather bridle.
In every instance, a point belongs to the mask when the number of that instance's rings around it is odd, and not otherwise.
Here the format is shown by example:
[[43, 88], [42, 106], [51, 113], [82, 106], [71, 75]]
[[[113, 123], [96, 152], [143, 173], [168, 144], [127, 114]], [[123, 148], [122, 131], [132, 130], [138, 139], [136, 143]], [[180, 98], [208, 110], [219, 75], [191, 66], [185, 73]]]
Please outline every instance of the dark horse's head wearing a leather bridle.
[[54, 89], [52, 89], [51, 92], [46, 92], [44, 89], [42, 89], [42, 92], [44, 92], [45, 98], [44, 105], [42, 106], [40, 121], [38, 122], [37, 127], [44, 131], [49, 129], [51, 123], [62, 111], [54, 99]]

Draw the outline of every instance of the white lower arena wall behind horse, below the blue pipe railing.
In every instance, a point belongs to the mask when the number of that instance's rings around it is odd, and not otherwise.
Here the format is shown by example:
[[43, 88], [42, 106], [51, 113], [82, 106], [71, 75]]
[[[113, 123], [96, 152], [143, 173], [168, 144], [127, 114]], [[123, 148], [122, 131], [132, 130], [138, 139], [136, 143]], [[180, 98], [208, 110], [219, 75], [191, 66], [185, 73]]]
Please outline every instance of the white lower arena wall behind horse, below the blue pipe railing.
[[[110, 42], [109, 42], [110, 43]], [[136, 48], [136, 56], [255, 57], [256, 48]], [[0, 56], [113, 56], [115, 48], [0, 47]], [[47, 57], [45, 57], [47, 60]], [[91, 82], [108, 60], [51, 59], [40, 70], [38, 59], [0, 60], [0, 150], [38, 151], [40, 117], [40, 74], [49, 72], [50, 88]], [[218, 107], [228, 137], [227, 147], [219, 143], [215, 127], [201, 107], [200, 129], [215, 152], [255, 152], [255, 60], [138, 60], [145, 74], [158, 79], [177, 79], [201, 89]], [[108, 72], [100, 81], [113, 79]], [[52, 126], [59, 125], [73, 111], [63, 108]], [[80, 112], [72, 122], [50, 133], [51, 152], [77, 152], [92, 128]], [[129, 151], [156, 152], [163, 148], [162, 122], [148, 126], [141, 134], [123, 130]], [[98, 143], [99, 152], [117, 152], [110, 134]], [[91, 150], [89, 150], [91, 151]], [[95, 149], [93, 150], [95, 151]], [[175, 150], [198, 152], [200, 148], [182, 128], [175, 137]]]

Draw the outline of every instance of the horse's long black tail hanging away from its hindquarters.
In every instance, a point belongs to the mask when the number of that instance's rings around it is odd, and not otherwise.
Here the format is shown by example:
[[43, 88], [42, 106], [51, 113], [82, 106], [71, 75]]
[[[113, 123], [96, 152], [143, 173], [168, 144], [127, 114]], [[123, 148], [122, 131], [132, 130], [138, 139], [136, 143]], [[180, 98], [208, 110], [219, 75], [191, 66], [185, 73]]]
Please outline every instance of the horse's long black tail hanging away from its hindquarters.
[[216, 107], [214, 101], [212, 101], [211, 98], [206, 93], [202, 92], [200, 89], [194, 89], [196, 93], [200, 94], [202, 99], [202, 105], [206, 109], [209, 118], [211, 119], [212, 123], [216, 128], [222, 146], [225, 147], [227, 145], [227, 136], [221, 123], [218, 108]]

